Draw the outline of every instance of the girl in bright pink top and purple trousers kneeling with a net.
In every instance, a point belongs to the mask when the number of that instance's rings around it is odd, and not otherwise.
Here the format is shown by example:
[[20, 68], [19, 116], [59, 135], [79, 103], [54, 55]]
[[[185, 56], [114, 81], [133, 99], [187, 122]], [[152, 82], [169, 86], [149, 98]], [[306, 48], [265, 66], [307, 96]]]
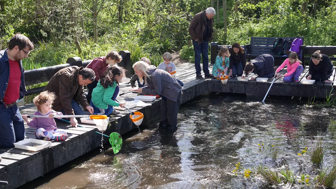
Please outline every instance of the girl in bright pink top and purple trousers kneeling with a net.
[[[285, 68], [287, 66], [287, 73], [280, 75], [278, 74], [281, 69]], [[303, 66], [301, 65], [301, 61], [297, 58], [296, 52], [291, 52], [288, 55], [288, 59], [282, 63], [282, 65], [277, 69], [275, 72], [275, 76], [277, 75], [278, 78], [284, 77], [285, 82], [291, 82], [294, 80], [294, 82], [300, 82], [299, 76], [301, 75], [301, 72], [303, 70]]]

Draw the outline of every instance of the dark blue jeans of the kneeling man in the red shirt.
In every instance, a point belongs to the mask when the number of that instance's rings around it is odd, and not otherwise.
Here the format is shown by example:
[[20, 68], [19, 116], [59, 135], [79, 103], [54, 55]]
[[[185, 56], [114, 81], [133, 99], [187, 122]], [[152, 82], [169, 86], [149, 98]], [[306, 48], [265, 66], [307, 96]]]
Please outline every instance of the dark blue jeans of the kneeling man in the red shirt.
[[0, 109], [0, 148], [12, 148], [25, 139], [25, 125], [16, 105]]

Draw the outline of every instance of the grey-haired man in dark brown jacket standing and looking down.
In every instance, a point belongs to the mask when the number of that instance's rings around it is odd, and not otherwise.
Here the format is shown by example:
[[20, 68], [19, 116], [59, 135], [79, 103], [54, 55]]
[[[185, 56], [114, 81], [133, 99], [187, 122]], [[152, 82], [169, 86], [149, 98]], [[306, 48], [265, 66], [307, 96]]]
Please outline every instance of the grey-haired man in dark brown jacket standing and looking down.
[[214, 78], [209, 72], [209, 41], [213, 39], [213, 16], [216, 14], [214, 8], [209, 7], [203, 12], [197, 13], [189, 25], [189, 34], [193, 40], [195, 51], [196, 79], [203, 79], [201, 75], [201, 54], [203, 58], [203, 72], [205, 78]]

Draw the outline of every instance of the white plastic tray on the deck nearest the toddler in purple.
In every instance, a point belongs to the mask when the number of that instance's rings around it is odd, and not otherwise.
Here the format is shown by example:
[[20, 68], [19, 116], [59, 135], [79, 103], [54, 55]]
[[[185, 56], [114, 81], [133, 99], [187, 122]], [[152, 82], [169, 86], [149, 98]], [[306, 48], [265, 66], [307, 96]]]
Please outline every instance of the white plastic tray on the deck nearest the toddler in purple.
[[38, 139], [26, 139], [26, 140], [14, 143], [14, 146], [15, 148], [36, 152], [44, 148], [50, 147], [50, 141], [43, 141], [43, 140], [38, 140]]

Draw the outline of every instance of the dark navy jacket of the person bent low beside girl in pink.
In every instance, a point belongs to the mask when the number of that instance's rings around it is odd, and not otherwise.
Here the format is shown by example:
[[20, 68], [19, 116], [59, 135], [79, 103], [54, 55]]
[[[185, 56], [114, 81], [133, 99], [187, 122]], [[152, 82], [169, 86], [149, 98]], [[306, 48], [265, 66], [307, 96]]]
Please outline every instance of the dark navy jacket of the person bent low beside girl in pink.
[[254, 73], [258, 77], [268, 77], [274, 73], [274, 59], [270, 54], [261, 54], [251, 61], [254, 67]]

